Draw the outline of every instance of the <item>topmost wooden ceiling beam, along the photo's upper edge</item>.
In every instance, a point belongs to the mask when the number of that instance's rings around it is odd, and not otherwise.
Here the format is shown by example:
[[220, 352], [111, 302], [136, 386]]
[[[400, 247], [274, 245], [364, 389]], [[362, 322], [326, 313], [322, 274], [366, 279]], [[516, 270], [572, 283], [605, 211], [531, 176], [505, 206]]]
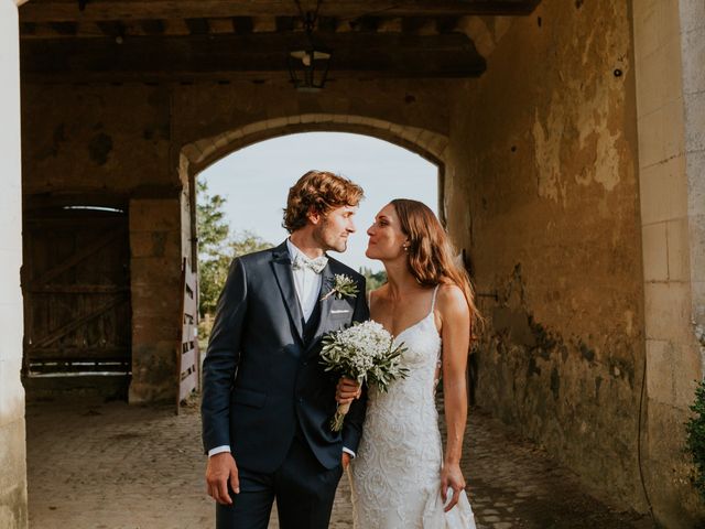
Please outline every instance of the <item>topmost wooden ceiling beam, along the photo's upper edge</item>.
[[[322, 17], [525, 15], [540, 0], [337, 0], [323, 2]], [[305, 4], [305, 2], [304, 2]], [[22, 22], [78, 22], [135, 19], [299, 17], [292, 0], [32, 0], [20, 7]]]

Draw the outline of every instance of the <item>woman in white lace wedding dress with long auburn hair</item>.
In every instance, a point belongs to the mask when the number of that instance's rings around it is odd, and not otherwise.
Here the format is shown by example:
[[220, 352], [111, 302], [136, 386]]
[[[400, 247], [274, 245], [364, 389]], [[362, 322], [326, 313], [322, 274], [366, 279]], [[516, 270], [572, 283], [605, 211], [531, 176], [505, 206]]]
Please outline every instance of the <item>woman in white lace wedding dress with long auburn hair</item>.
[[[369, 389], [367, 417], [350, 464], [358, 529], [475, 528], [465, 495], [460, 453], [467, 415], [465, 368], [478, 317], [465, 271], [424, 204], [394, 199], [367, 230], [367, 257], [379, 259], [388, 282], [370, 293], [370, 316], [406, 350], [405, 379], [389, 392]], [[435, 388], [443, 375], [447, 444], [443, 453]], [[340, 403], [359, 396], [341, 379]]]

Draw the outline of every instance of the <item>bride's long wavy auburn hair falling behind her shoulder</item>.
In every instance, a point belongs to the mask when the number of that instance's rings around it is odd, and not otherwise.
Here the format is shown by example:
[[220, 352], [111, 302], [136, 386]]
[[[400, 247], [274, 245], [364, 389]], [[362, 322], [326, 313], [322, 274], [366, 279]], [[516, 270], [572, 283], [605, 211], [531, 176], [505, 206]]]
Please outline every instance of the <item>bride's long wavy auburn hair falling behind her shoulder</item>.
[[395, 198], [394, 206], [403, 234], [409, 237], [409, 270], [425, 287], [456, 284], [465, 294], [470, 311], [470, 339], [477, 338], [481, 316], [475, 305], [475, 292], [465, 268], [458, 266], [448, 236], [429, 206], [419, 201]]

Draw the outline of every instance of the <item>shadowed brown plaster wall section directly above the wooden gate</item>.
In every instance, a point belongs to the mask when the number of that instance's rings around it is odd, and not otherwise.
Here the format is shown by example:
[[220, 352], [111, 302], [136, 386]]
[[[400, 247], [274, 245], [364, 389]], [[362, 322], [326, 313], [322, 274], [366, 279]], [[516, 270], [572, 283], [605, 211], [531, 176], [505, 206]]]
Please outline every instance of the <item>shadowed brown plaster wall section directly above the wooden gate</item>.
[[165, 87], [23, 84], [22, 125], [25, 195], [175, 185]]

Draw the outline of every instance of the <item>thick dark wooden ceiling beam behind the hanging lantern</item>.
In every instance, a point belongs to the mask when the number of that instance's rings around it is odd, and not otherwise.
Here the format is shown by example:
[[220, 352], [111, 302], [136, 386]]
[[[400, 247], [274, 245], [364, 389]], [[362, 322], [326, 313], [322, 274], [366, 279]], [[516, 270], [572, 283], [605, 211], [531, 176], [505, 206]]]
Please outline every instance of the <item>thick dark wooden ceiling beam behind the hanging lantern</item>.
[[[23, 77], [101, 78], [228, 77], [288, 72], [289, 52], [305, 45], [291, 33], [208, 34], [94, 39], [31, 39], [21, 42]], [[465, 35], [325, 33], [330, 75], [368, 77], [475, 77], [485, 60]], [[345, 73], [345, 74], [343, 74]]]

